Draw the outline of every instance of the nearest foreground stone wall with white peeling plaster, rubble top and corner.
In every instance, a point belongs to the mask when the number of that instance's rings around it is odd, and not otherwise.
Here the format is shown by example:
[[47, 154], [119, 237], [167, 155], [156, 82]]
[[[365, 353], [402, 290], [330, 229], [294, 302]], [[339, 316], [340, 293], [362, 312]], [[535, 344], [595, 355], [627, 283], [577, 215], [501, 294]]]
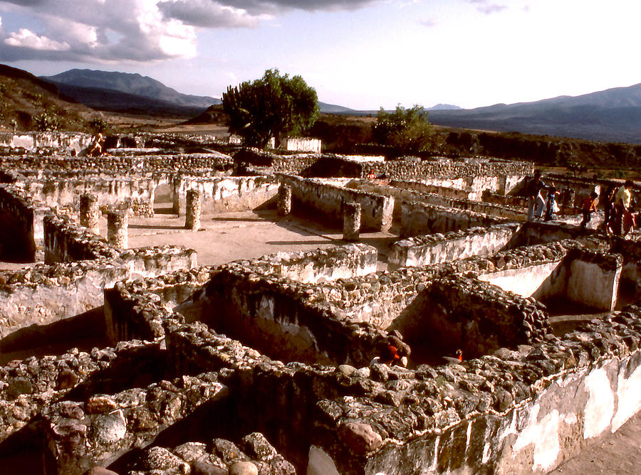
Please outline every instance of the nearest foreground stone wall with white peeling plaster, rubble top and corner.
[[[276, 365], [202, 324], [168, 338], [182, 370], [241, 371], [236, 424], [260, 429], [291, 460], [307, 447], [310, 473], [546, 473], [641, 408], [638, 308], [563, 339], [416, 370]], [[256, 388], [274, 385], [278, 394], [256, 405]], [[273, 429], [286, 420], [289, 431]]]

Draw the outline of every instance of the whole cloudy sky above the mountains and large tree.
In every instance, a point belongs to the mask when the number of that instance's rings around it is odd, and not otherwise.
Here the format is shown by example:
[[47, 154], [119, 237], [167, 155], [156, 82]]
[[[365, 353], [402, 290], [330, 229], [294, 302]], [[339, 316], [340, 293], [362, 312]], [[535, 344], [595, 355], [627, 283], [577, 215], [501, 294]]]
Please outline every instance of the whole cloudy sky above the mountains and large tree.
[[472, 108], [641, 82], [639, 0], [0, 0], [0, 63], [220, 97], [264, 70], [355, 109]]

